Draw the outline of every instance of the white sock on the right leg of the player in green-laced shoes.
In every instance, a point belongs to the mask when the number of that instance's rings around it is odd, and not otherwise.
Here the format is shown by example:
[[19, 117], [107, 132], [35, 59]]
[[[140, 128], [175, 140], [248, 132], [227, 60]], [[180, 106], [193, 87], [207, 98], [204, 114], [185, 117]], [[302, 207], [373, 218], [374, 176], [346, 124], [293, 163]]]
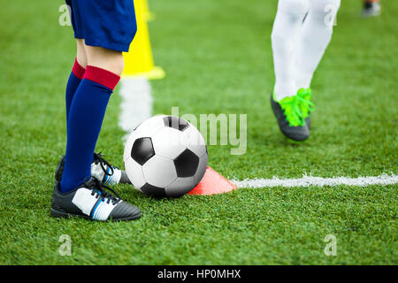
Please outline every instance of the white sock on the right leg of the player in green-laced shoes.
[[297, 39], [297, 88], [310, 88], [312, 77], [332, 39], [341, 0], [310, 0], [310, 11]]

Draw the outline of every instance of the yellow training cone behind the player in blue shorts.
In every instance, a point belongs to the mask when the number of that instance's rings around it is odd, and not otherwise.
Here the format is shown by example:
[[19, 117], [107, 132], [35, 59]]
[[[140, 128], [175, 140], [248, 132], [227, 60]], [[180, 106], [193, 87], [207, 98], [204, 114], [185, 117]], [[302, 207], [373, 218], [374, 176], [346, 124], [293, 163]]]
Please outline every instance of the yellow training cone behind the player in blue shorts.
[[[153, 63], [149, 42], [149, 29], [144, 14], [143, 0], [134, 0], [137, 34], [131, 43], [130, 50], [123, 53], [125, 69], [123, 77], [146, 77], [149, 80], [163, 79], [165, 71]], [[148, 7], [148, 6], [147, 6]]]

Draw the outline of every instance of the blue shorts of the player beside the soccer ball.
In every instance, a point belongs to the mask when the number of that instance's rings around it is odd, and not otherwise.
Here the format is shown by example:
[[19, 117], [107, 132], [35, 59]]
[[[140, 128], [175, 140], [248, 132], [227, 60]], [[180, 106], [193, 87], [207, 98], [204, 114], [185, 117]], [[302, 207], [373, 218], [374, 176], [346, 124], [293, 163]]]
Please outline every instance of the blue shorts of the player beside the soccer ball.
[[128, 51], [137, 32], [133, 0], [66, 0], [74, 37], [90, 46]]

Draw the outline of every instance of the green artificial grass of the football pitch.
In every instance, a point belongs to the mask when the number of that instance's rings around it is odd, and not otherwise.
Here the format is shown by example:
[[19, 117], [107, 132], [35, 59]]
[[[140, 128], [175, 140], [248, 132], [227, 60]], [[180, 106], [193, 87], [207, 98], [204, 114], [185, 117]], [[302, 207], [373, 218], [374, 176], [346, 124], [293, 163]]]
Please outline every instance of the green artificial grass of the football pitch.
[[[58, 158], [65, 150], [65, 82], [72, 27], [63, 1], [7, 1], [0, 11], [0, 264], [398, 264], [397, 186], [272, 187], [155, 200], [130, 186], [119, 195], [140, 220], [96, 223], [50, 217]], [[377, 176], [398, 159], [395, 1], [362, 19], [344, 1], [315, 75], [317, 111], [308, 142], [279, 133], [269, 98], [270, 34], [276, 1], [152, 0], [153, 114], [247, 114], [247, 152], [209, 146], [209, 164], [232, 179]], [[120, 97], [111, 98], [97, 143], [123, 167]], [[60, 256], [70, 235], [72, 256]], [[327, 234], [337, 256], [325, 256]]]

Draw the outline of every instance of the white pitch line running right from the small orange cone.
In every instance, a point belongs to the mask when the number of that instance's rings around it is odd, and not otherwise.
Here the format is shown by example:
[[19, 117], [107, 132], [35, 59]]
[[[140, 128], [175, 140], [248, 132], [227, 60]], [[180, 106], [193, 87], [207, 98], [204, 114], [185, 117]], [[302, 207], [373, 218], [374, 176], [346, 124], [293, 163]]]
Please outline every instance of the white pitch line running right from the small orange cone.
[[238, 187], [335, 187], [335, 186], [357, 186], [366, 187], [371, 185], [394, 185], [398, 183], [398, 175], [382, 174], [377, 177], [333, 177], [321, 178], [304, 175], [300, 179], [245, 179], [231, 180]]

